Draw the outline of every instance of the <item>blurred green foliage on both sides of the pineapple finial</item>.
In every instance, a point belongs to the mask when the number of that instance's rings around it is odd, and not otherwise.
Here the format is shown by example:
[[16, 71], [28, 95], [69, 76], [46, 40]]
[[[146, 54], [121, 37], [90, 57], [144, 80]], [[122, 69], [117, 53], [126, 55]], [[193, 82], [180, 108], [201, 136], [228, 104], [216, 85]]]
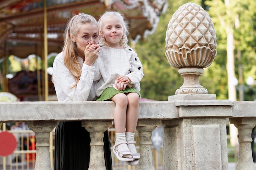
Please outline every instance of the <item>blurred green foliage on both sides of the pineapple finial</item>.
[[[153, 100], [167, 100], [169, 95], [174, 95], [176, 89], [183, 84], [183, 77], [178, 70], [168, 64], [165, 57], [165, 36], [169, 20], [173, 13], [187, 2], [194, 2], [201, 5], [210, 15], [217, 36], [217, 52], [215, 60], [208, 68], [204, 68], [204, 73], [200, 76], [199, 82], [207, 88], [210, 94], [216, 94], [217, 99], [228, 98], [227, 86], [227, 35], [225, 27], [216, 16], [220, 13], [227, 21], [226, 24], [235, 23], [234, 15], [239, 15], [240, 27], [235, 28], [234, 38], [235, 47], [238, 45], [242, 51], [242, 64], [244, 83], [249, 75], [256, 79], [256, 1], [236, 0], [234, 6], [230, 7], [231, 15], [223, 13], [225, 11], [224, 1], [222, 0], [195, 0], [195, 1], [174, 1], [168, 0], [168, 9], [166, 13], [160, 16], [159, 24], [153, 35], [148, 35], [145, 41], [139, 40], [135, 44], [135, 50], [138, 53], [144, 66], [144, 78], [141, 81], [142, 97]], [[214, 4], [214, 3], [217, 3]], [[217, 6], [217, 8], [216, 8]], [[232, 17], [233, 16], [233, 17]], [[239, 42], [239, 43], [238, 43]], [[237, 48], [236, 48], [237, 49]], [[235, 50], [236, 54], [236, 50]], [[238, 78], [237, 57], [235, 60], [235, 73]], [[252, 88], [246, 88], [245, 93], [254, 93]], [[245, 99], [249, 99], [245, 96]]]

